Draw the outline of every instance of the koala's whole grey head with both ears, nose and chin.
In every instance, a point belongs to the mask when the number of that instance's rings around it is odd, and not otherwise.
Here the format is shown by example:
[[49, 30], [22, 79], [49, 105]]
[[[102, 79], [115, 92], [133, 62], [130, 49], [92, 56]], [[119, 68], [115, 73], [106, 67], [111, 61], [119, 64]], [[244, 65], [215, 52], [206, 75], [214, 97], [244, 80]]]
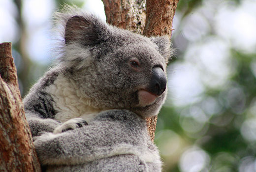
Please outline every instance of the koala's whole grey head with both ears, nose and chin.
[[73, 11], [59, 15], [64, 16], [60, 63], [69, 69], [67, 76], [84, 96], [91, 99], [91, 106], [157, 115], [167, 92], [169, 38], [147, 38], [109, 26], [91, 14]]

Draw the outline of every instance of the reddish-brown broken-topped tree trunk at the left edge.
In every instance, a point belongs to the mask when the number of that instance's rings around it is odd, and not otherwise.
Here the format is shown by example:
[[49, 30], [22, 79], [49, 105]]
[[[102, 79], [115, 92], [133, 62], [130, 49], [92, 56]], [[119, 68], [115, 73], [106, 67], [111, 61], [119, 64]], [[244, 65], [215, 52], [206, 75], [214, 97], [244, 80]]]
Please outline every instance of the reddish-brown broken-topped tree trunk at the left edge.
[[40, 172], [25, 118], [11, 43], [0, 44], [0, 172]]

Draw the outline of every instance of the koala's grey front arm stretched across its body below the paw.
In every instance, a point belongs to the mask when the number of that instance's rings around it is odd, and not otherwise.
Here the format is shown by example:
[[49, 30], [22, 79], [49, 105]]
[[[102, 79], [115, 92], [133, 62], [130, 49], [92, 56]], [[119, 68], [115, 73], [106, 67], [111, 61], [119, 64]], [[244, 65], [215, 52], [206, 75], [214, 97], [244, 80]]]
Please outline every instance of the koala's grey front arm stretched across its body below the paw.
[[36, 137], [34, 145], [40, 164], [78, 165], [122, 154], [154, 159], [154, 153], [145, 150], [144, 121], [134, 115], [128, 111], [108, 111], [83, 128]]

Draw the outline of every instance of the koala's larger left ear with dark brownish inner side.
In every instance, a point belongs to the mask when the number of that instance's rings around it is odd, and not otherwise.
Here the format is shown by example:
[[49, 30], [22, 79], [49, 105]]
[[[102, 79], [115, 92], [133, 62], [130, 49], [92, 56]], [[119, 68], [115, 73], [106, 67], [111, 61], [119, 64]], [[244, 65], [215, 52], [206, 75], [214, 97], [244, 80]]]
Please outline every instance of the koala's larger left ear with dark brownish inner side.
[[77, 42], [85, 46], [96, 45], [106, 38], [103, 36], [105, 27], [93, 15], [73, 16], [67, 20], [65, 25], [65, 44]]

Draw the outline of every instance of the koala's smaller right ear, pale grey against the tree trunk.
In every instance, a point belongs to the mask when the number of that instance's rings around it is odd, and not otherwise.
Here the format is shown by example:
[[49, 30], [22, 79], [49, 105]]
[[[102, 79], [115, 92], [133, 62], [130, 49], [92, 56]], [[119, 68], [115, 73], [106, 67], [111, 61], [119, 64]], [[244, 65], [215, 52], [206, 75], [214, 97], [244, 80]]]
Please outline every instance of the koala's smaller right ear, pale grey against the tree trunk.
[[166, 63], [168, 63], [169, 58], [172, 56], [171, 42], [167, 36], [157, 36], [150, 38], [152, 42], [157, 44], [158, 51], [165, 58]]

